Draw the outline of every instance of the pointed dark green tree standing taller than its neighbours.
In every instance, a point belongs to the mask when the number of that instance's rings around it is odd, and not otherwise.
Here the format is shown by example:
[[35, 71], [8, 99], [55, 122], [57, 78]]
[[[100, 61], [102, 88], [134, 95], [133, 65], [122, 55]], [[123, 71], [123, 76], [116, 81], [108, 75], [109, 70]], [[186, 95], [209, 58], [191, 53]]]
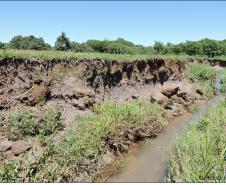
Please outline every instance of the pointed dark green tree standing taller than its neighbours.
[[55, 49], [59, 51], [66, 51], [70, 49], [70, 40], [64, 32], [57, 37], [55, 42]]

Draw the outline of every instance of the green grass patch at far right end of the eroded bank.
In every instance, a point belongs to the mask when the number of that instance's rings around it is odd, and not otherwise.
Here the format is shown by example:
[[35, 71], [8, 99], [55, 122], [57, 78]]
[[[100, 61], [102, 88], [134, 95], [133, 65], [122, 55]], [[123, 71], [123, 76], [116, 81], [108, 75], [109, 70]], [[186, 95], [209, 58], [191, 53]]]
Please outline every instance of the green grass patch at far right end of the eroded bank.
[[215, 93], [216, 71], [208, 64], [187, 65], [188, 75], [202, 92], [210, 97]]

